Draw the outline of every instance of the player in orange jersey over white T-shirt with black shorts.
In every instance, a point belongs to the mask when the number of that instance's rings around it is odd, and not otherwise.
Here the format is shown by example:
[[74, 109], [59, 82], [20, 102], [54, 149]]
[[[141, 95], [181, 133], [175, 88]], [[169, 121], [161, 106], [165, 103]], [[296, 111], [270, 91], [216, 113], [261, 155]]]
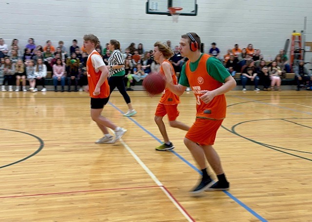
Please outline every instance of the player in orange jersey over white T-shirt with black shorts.
[[[101, 116], [104, 105], [109, 99], [109, 85], [108, 85], [108, 69], [96, 51], [98, 44], [98, 37], [95, 35], [85, 35], [83, 37], [83, 48], [88, 53], [87, 60], [87, 77], [88, 83], [85, 91], [90, 93], [91, 97], [91, 118], [98, 124], [98, 127], [103, 132], [104, 136], [96, 141], [96, 143], [114, 143], [119, 140], [126, 132], [126, 129], [118, 127], [106, 117]], [[109, 134], [107, 127], [115, 130], [116, 137]]]

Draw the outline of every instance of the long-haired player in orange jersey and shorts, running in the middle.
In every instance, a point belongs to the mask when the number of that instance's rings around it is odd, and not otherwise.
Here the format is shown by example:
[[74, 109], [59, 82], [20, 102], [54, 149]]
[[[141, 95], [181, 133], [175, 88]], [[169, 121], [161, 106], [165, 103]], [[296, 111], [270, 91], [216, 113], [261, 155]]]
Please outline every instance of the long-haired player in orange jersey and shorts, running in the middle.
[[[156, 41], [154, 44], [154, 59], [159, 62], [160, 65], [160, 75], [163, 75], [166, 78], [167, 82], [171, 84], [177, 84], [175, 69], [168, 61], [174, 55], [172, 49], [165, 44], [162, 44], [160, 41]], [[172, 150], [175, 148], [173, 143], [169, 140], [166, 127], [162, 118], [167, 114], [169, 119], [169, 124], [172, 127], [176, 127], [182, 130], [189, 130], [189, 126], [185, 125], [182, 122], [176, 121], [176, 118], [179, 115], [177, 110], [177, 104], [179, 103], [179, 97], [172, 93], [169, 89], [165, 89], [162, 93], [160, 101], [156, 108], [155, 113], [155, 122], [159, 128], [159, 131], [164, 139], [164, 143], [156, 147], [156, 150], [166, 151]]]

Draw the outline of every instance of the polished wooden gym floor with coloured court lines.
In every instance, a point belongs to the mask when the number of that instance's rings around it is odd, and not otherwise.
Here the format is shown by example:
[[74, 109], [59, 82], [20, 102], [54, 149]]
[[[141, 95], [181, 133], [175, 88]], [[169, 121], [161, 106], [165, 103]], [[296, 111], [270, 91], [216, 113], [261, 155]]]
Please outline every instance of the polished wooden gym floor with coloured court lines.
[[[114, 91], [104, 116], [128, 132], [115, 144], [90, 118], [85, 93], [0, 93], [1, 222], [312, 221], [312, 92], [231, 91], [215, 149], [228, 192], [188, 191], [200, 178], [184, 131], [165, 123], [176, 148], [155, 151], [159, 97]], [[195, 120], [192, 92], [179, 121]], [[215, 177], [214, 177], [215, 178]]]

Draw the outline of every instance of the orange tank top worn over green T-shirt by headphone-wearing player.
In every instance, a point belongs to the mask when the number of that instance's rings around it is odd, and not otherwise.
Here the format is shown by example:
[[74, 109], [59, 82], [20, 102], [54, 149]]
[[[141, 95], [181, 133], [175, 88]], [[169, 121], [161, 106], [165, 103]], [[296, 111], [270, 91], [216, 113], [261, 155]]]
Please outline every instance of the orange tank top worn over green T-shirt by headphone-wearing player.
[[205, 90], [212, 91], [222, 85], [222, 82], [216, 81], [207, 71], [206, 63], [210, 57], [207, 54], [203, 54], [194, 72], [190, 69], [190, 61], [187, 61], [185, 73], [196, 98], [196, 118], [222, 120], [226, 114], [224, 94], [216, 96], [207, 104], [199, 99], [199, 97], [205, 94]]

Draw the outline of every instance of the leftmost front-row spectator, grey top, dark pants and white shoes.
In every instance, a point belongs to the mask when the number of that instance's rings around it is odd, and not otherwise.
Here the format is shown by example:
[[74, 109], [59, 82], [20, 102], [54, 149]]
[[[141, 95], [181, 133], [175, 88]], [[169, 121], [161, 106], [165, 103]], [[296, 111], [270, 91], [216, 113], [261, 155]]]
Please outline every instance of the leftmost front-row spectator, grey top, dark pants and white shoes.
[[9, 86], [9, 92], [13, 92], [13, 84], [14, 84], [14, 65], [12, 64], [9, 57], [4, 57], [4, 64], [1, 65], [0, 70], [3, 75], [3, 82], [1, 91], [6, 92], [5, 83]]

